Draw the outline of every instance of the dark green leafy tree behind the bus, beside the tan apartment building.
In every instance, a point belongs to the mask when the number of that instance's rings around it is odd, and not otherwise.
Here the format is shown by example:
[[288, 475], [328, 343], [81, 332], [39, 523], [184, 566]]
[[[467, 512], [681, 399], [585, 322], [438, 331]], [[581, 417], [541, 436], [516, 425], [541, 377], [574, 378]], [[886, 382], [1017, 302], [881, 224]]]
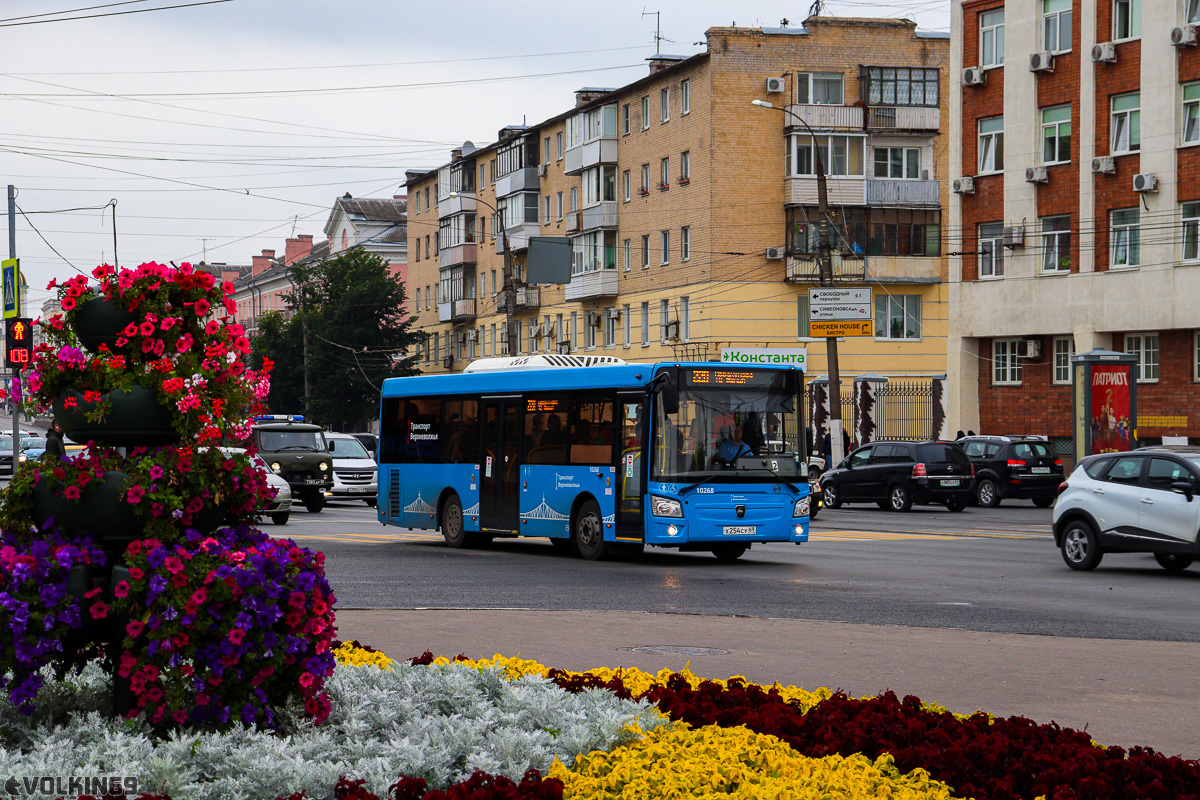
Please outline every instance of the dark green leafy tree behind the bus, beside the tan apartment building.
[[404, 284], [361, 248], [295, 265], [292, 273], [289, 315], [264, 315], [253, 342], [256, 359], [275, 362], [271, 411], [302, 408], [314, 422], [361, 428], [378, 414], [384, 379], [416, 373], [421, 333], [402, 309]]

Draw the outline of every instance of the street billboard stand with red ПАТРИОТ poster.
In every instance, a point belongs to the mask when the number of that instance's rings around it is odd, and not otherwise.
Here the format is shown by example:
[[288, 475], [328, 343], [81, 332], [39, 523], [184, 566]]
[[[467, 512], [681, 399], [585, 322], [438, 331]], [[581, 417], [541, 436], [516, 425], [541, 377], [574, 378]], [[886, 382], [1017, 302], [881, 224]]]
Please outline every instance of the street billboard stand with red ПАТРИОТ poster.
[[1075, 463], [1138, 443], [1138, 356], [1090, 350], [1073, 356], [1072, 410]]

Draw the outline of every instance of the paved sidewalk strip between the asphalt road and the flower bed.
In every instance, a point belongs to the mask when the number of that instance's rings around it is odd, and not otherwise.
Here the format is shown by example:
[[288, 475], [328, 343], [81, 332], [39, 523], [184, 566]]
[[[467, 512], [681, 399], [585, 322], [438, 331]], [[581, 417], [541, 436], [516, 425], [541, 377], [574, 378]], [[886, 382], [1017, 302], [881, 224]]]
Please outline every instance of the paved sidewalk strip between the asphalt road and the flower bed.
[[[980, 633], [792, 619], [528, 609], [342, 609], [338, 638], [392, 658], [502, 652], [566, 669], [664, 667], [704, 678], [893, 690], [952, 711], [983, 709], [1085, 728], [1103, 745], [1200, 757], [1200, 644]], [[721, 655], [634, 652], [703, 648]]]

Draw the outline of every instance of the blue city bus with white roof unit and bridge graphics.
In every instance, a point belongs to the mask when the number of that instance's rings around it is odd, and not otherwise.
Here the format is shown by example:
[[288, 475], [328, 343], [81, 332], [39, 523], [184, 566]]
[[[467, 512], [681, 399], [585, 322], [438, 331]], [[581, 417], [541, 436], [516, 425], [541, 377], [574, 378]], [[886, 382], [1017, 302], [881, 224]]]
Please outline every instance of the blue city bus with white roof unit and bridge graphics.
[[545, 536], [739, 558], [806, 542], [803, 373], [611, 356], [481, 359], [384, 381], [379, 522], [451, 547]]

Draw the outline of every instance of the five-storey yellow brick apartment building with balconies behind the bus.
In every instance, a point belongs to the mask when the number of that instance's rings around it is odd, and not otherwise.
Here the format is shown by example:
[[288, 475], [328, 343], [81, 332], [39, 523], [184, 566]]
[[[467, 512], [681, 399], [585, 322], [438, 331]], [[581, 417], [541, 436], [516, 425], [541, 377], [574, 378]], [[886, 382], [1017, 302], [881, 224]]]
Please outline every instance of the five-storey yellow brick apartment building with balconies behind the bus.
[[[506, 354], [506, 233], [521, 354], [806, 348], [810, 378], [824, 374], [808, 330], [816, 145], [836, 282], [874, 295], [875, 336], [840, 344], [844, 379], [946, 372], [948, 37], [823, 17], [706, 35], [704, 53], [654, 56], [640, 80], [582, 89], [557, 116], [408, 174], [424, 371]], [[530, 236], [569, 239], [569, 283], [524, 282]]]

